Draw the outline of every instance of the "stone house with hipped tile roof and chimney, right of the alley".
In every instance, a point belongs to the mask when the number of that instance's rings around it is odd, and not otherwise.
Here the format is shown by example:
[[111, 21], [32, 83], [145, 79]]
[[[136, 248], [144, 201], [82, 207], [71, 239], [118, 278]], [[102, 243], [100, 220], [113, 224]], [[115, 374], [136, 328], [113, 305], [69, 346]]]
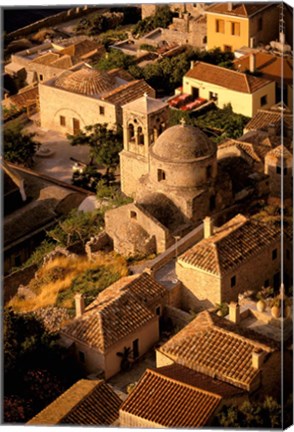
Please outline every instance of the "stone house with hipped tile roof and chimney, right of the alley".
[[211, 219], [206, 218], [204, 239], [178, 258], [176, 274], [188, 310], [238, 301], [238, 295], [248, 289], [273, 286], [278, 290], [280, 226], [239, 214], [214, 232]]

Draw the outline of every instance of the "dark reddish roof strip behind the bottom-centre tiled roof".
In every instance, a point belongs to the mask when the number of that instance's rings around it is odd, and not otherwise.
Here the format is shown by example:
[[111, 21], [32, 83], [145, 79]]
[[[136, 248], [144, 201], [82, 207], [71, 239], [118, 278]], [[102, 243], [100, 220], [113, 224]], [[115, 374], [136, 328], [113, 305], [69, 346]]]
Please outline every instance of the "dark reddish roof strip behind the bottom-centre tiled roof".
[[177, 363], [157, 368], [156, 371], [161, 375], [197, 387], [200, 390], [217, 394], [222, 398], [233, 398], [245, 394], [245, 390], [239, 389], [238, 387], [234, 387], [231, 384], [214, 379], [200, 372], [196, 372]]

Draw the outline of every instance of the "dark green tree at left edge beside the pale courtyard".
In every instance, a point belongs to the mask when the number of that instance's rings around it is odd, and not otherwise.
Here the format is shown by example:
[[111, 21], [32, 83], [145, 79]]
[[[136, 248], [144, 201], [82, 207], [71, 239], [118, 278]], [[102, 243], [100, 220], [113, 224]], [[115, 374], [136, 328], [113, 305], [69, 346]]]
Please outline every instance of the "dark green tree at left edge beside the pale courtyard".
[[5, 160], [32, 166], [34, 155], [40, 147], [40, 143], [33, 139], [34, 136], [33, 133], [23, 133], [21, 126], [18, 124], [5, 126], [3, 133]]

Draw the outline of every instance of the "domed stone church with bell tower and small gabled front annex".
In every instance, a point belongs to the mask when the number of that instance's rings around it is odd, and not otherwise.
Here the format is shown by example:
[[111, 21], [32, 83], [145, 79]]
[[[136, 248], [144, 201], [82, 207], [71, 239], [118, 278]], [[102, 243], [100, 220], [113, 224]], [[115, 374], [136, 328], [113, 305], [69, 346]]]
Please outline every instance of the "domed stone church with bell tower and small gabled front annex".
[[[142, 106], [155, 109], [144, 116]], [[164, 130], [166, 121], [166, 105], [154, 99], [124, 107], [121, 184], [135, 202], [105, 214], [106, 232], [124, 255], [163, 252], [175, 236], [232, 203], [231, 182], [218, 170], [213, 142], [184, 122]]]

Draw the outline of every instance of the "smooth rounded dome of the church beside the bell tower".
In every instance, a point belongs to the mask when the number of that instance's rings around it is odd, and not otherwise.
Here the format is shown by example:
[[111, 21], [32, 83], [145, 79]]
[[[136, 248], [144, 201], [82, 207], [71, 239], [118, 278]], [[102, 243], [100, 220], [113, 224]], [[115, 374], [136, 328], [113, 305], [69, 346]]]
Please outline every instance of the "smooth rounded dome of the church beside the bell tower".
[[212, 156], [216, 145], [199, 128], [181, 124], [166, 129], [155, 141], [152, 152], [162, 159], [191, 160]]

